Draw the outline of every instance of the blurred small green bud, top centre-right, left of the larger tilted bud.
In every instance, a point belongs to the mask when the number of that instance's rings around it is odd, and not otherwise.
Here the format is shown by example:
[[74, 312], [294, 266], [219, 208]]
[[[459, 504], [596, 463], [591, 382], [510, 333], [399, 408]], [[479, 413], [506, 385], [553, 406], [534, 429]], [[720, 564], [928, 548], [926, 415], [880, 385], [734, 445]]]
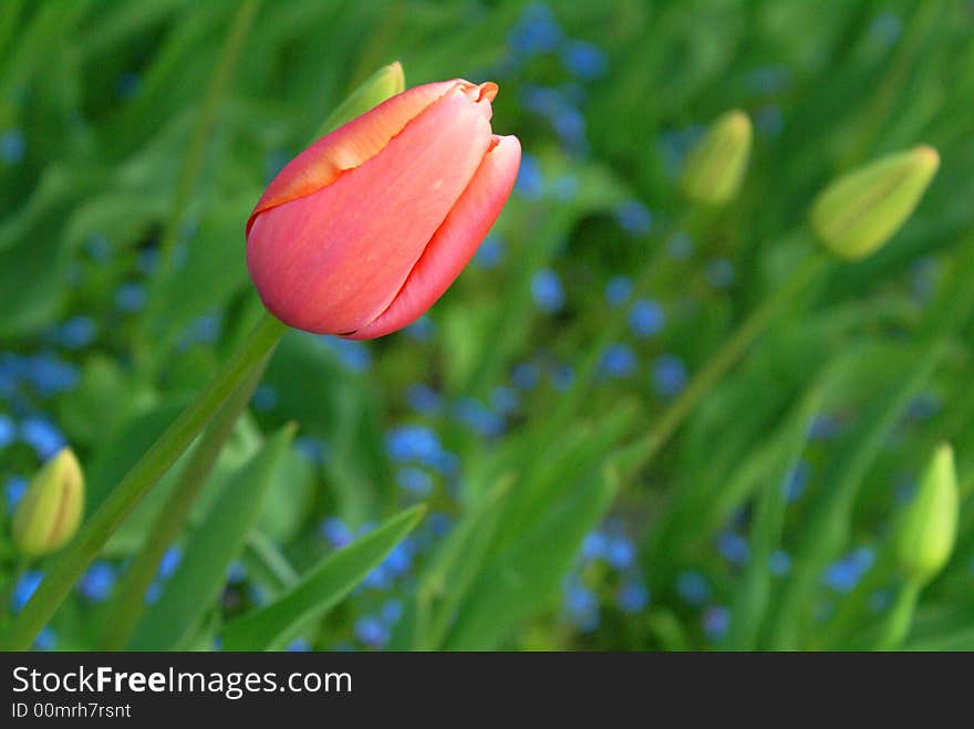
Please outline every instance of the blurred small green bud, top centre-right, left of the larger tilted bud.
[[711, 126], [691, 153], [683, 173], [683, 191], [705, 205], [725, 205], [737, 196], [750, 157], [750, 119], [727, 112]]

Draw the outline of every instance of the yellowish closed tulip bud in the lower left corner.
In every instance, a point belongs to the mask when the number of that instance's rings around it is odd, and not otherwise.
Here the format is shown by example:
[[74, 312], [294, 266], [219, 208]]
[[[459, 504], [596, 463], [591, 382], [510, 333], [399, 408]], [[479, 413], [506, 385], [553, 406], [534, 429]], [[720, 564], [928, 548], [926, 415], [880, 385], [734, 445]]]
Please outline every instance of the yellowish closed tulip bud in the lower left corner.
[[13, 514], [13, 543], [41, 555], [63, 546], [77, 531], [84, 511], [84, 476], [70, 448], [37, 472]]

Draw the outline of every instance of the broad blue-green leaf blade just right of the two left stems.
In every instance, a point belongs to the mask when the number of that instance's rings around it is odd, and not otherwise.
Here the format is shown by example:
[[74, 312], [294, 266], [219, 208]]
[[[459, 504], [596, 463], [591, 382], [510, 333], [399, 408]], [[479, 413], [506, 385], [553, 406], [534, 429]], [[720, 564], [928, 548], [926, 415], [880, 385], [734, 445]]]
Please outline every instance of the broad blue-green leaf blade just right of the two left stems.
[[240, 471], [210, 509], [184, 552], [159, 602], [136, 628], [129, 647], [165, 650], [185, 647], [218, 597], [230, 563], [257, 523], [274, 472], [294, 435], [286, 426]]

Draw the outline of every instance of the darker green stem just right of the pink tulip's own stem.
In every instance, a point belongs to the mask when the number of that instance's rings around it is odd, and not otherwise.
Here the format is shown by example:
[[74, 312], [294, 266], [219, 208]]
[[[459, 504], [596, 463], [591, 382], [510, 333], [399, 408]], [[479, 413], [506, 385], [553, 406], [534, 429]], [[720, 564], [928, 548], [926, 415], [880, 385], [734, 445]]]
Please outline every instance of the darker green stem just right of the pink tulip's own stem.
[[186, 525], [217, 457], [234, 430], [234, 425], [250, 402], [253, 389], [263, 376], [267, 357], [255, 366], [246, 382], [227, 400], [200, 437], [189, 461], [179, 473], [173, 492], [153, 522], [142, 549], [132, 560], [125, 577], [112, 600], [102, 633], [101, 650], [121, 650], [145, 610], [144, 595], [155, 579], [159, 563], [169, 545]]

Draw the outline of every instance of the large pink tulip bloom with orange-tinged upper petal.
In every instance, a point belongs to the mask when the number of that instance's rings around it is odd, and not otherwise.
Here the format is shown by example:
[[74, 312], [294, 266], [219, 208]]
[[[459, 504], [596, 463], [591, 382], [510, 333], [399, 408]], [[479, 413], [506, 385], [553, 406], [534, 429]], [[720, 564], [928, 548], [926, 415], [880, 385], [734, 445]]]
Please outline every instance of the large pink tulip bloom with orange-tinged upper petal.
[[265, 305], [297, 329], [364, 340], [418, 319], [510, 195], [517, 137], [490, 129], [497, 85], [410, 88], [294, 157], [247, 221]]

